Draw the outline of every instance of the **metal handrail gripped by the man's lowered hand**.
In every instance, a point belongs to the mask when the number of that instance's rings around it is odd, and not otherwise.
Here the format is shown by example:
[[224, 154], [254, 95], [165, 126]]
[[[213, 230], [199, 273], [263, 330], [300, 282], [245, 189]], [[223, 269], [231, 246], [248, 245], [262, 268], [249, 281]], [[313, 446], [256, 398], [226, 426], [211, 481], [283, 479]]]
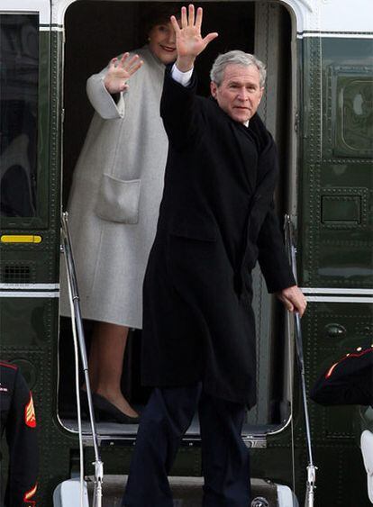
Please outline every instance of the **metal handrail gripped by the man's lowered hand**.
[[[297, 282], [296, 275], [296, 246], [293, 235], [293, 224], [288, 214], [285, 215], [284, 221], [285, 230], [285, 244], [287, 248], [287, 255], [289, 258], [290, 266], [293, 270], [294, 277]], [[317, 466], [314, 466], [314, 459], [312, 456], [312, 443], [311, 443], [311, 430], [310, 421], [308, 416], [308, 404], [307, 394], [305, 389], [305, 359], [303, 354], [303, 340], [302, 340], [302, 328], [301, 319], [298, 312], [294, 314], [295, 321], [295, 335], [296, 335], [296, 358], [299, 367], [302, 397], [303, 397], [303, 408], [305, 412], [305, 435], [307, 439], [307, 451], [308, 451], [308, 466], [307, 466], [307, 482], [305, 491], [305, 507], [314, 507], [314, 490], [316, 488], [316, 470]]]

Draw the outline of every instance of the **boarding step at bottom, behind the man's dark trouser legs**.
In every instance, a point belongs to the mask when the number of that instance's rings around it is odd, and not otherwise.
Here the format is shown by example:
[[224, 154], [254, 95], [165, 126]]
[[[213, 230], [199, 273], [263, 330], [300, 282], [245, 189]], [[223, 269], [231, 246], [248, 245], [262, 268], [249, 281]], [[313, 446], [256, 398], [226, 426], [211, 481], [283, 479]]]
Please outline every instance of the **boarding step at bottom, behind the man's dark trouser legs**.
[[[174, 507], [201, 507], [203, 477], [170, 476], [169, 484], [174, 497]], [[92, 498], [94, 477], [87, 477], [88, 495]], [[105, 475], [103, 483], [103, 507], [121, 507], [127, 475]], [[261, 479], [251, 479], [250, 507], [298, 507], [295, 495], [285, 485]], [[249, 506], [248, 506], [249, 507]]]

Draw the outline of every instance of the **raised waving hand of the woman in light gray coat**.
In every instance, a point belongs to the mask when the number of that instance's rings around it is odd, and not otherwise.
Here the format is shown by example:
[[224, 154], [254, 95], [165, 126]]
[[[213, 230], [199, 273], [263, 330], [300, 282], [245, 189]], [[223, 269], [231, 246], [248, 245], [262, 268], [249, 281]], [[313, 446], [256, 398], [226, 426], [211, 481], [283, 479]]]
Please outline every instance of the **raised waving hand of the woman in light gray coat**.
[[114, 58], [110, 60], [107, 69], [104, 84], [109, 94], [118, 94], [128, 88], [128, 79], [141, 68], [143, 61], [139, 55], [134, 55], [129, 59], [130, 53], [124, 53], [121, 59]]

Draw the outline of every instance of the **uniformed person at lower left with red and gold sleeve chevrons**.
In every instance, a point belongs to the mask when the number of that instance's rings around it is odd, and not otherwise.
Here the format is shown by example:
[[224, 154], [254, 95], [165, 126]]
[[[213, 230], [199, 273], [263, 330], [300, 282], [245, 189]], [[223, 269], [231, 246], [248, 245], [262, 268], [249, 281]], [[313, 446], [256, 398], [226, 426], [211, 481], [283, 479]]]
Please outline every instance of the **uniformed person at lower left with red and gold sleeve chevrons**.
[[0, 433], [9, 447], [5, 507], [36, 505], [38, 444], [32, 393], [19, 368], [0, 361]]

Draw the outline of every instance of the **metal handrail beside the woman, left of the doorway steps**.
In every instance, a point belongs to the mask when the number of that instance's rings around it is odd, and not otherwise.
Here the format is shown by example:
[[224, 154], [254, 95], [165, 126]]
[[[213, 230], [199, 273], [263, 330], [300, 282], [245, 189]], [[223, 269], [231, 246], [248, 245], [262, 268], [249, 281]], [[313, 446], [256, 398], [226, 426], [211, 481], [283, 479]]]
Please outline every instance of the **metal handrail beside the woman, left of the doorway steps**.
[[[99, 454], [98, 448], [98, 440], [96, 433], [96, 421], [95, 421], [95, 412], [93, 409], [92, 403], [92, 393], [91, 386], [89, 382], [88, 376], [88, 362], [86, 358], [86, 340], [84, 337], [83, 323], [80, 312], [80, 303], [79, 303], [79, 294], [77, 289], [77, 275], [74, 264], [73, 252], [71, 247], [70, 235], [68, 232], [68, 213], [62, 213], [61, 216], [61, 240], [63, 246], [63, 252], [65, 254], [65, 263], [66, 270], [68, 275], [68, 294], [70, 299], [70, 307], [71, 307], [71, 320], [73, 323], [73, 334], [74, 340], [78, 342], [78, 347], [80, 351], [80, 358], [83, 365], [84, 376], [86, 381], [86, 396], [88, 400], [88, 408], [89, 408], [89, 420], [91, 423], [92, 430], [92, 439], [93, 446], [95, 451], [95, 461], [93, 465], [95, 466], [95, 491], [94, 491], [94, 499], [93, 499], [93, 507], [101, 507], [102, 505], [102, 483], [104, 478], [104, 464], [101, 461], [101, 457]], [[76, 336], [77, 334], [77, 336]], [[79, 394], [77, 389], [77, 400], [79, 401]], [[78, 427], [79, 427], [79, 439], [81, 442], [81, 421], [80, 421], [80, 408], [78, 407]]]

